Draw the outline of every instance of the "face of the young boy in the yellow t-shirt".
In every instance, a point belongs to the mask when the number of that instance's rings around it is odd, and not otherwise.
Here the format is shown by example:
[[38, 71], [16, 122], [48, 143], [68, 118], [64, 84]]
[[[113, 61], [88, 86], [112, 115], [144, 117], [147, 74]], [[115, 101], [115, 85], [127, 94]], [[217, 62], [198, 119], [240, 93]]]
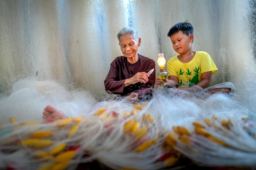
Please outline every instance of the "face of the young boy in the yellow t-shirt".
[[194, 35], [183, 34], [182, 31], [171, 36], [172, 47], [179, 54], [185, 54], [191, 49]]

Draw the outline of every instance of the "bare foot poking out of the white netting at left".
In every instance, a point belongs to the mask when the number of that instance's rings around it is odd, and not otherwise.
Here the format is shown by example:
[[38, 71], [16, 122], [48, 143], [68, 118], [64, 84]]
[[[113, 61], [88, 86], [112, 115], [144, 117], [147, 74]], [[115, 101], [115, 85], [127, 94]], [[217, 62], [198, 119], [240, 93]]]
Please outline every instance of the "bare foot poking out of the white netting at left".
[[60, 110], [57, 110], [53, 106], [46, 106], [43, 112], [43, 119], [46, 120], [58, 120], [67, 118], [64, 113]]

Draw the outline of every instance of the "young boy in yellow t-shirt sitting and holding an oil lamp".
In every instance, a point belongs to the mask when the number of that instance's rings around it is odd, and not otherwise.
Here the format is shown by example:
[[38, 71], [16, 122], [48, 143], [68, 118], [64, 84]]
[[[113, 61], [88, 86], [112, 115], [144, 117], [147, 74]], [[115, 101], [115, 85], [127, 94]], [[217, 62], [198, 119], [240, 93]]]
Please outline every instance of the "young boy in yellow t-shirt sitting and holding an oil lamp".
[[[167, 86], [179, 87], [179, 90], [195, 92], [204, 89], [206, 92], [234, 93], [235, 86], [230, 83], [221, 83], [207, 88], [212, 75], [218, 71], [211, 56], [204, 51], [192, 50], [194, 41], [193, 26], [188, 22], [175, 24], [168, 36], [171, 38], [173, 49], [179, 55], [170, 58], [167, 62]], [[156, 83], [163, 82], [156, 77]]]

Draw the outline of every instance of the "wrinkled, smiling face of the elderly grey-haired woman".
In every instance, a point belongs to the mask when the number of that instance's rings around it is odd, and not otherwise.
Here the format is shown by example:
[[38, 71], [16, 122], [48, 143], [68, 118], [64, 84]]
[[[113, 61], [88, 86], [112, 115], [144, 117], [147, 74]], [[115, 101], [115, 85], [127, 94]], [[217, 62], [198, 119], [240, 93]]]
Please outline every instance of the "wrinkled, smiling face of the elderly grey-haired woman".
[[138, 47], [141, 45], [141, 38], [137, 42], [133, 36], [125, 34], [119, 37], [119, 43], [123, 55], [127, 58], [132, 58], [137, 55]]

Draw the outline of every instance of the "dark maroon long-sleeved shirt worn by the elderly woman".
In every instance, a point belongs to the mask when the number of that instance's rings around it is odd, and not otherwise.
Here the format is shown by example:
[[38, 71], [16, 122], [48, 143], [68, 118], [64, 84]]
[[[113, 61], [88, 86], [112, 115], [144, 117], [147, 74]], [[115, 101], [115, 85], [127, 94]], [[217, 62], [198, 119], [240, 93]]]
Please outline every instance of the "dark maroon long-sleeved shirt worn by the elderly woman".
[[[104, 81], [106, 92], [121, 96], [136, 92], [139, 96], [142, 96], [148, 94], [153, 89], [156, 81], [155, 61], [140, 54], [138, 55], [139, 59], [134, 64], [129, 63], [125, 56], [119, 56], [114, 59], [110, 64], [109, 74]], [[153, 68], [154, 71], [148, 77], [146, 84], [138, 82], [125, 87], [126, 79], [133, 77], [138, 72], [148, 73]]]

